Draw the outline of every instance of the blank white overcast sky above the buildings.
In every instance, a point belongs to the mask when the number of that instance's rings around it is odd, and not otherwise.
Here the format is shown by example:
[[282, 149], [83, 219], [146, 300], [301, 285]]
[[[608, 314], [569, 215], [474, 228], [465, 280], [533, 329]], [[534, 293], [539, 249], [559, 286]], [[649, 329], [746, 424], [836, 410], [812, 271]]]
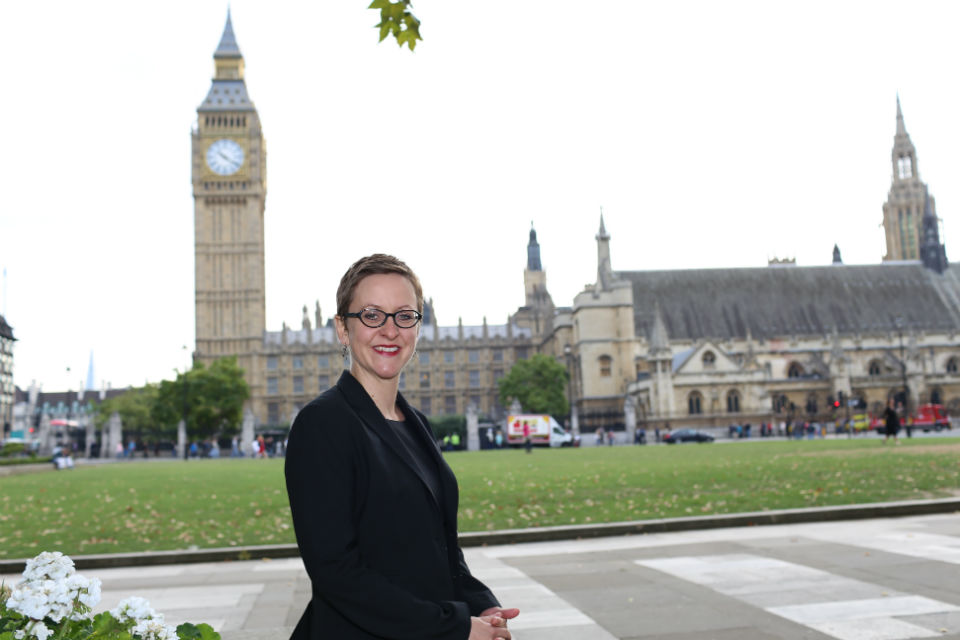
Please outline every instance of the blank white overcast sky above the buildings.
[[[960, 257], [960, 5], [416, 0], [416, 52], [366, 0], [233, 0], [268, 149], [267, 327], [334, 311], [361, 255], [441, 324], [523, 303], [530, 222], [569, 305], [596, 273], [848, 264], [884, 252], [899, 91]], [[14, 379], [158, 381], [193, 349], [190, 129], [226, 3], [0, 3], [0, 313]], [[955, 247], [951, 250], [951, 246]], [[956, 259], [956, 258], [955, 258]], [[67, 367], [71, 371], [67, 373]]]

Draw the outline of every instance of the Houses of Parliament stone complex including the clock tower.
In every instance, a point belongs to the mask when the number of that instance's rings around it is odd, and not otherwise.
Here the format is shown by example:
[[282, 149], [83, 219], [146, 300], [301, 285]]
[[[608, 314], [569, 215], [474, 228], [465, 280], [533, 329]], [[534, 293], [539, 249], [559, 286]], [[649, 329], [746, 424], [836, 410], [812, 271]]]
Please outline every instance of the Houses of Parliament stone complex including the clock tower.
[[[285, 426], [344, 363], [319, 307], [304, 307], [299, 327], [265, 326], [266, 144], [229, 15], [213, 57], [192, 132], [195, 357], [236, 356], [257, 424]], [[473, 405], [496, 420], [497, 380], [545, 353], [571, 375], [569, 420], [583, 432], [823, 419], [838, 399], [937, 402], [956, 415], [960, 269], [899, 100], [891, 161], [887, 253], [873, 265], [845, 265], [834, 247], [829, 266], [618, 270], [601, 217], [596, 282], [556, 306], [531, 228], [524, 305], [505, 324], [438, 326], [427, 304], [401, 390], [428, 415]]]

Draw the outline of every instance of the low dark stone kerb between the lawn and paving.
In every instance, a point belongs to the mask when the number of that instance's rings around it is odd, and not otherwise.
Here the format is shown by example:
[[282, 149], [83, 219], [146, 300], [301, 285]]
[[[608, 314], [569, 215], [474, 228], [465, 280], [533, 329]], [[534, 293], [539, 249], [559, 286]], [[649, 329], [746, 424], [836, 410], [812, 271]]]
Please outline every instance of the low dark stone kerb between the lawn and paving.
[[[598, 524], [565, 525], [558, 527], [531, 527], [529, 529], [502, 529], [499, 531], [470, 531], [460, 534], [460, 546], [483, 547], [524, 542], [577, 540], [607, 536], [625, 536], [645, 533], [669, 533], [728, 527], [751, 527], [835, 520], [863, 520], [868, 518], [901, 518], [905, 516], [960, 512], [960, 498], [908, 500], [902, 502], [873, 502], [868, 504], [752, 511], [709, 516], [662, 518]], [[46, 549], [55, 551], [55, 549]], [[140, 551], [133, 553], [106, 553], [71, 556], [77, 569], [110, 569], [167, 564], [194, 564], [199, 562], [236, 562], [243, 560], [272, 560], [297, 558], [300, 552], [295, 544], [221, 547], [213, 549]], [[0, 574], [22, 573], [26, 559], [0, 560]]]

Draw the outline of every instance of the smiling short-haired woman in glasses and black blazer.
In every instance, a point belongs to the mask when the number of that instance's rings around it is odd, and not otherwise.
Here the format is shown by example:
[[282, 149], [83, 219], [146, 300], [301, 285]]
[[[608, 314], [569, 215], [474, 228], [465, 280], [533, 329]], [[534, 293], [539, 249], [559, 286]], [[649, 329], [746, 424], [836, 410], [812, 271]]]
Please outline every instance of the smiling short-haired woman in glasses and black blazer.
[[400, 260], [358, 260], [337, 289], [350, 370], [290, 430], [285, 474], [312, 600], [292, 638], [510, 638], [457, 543], [457, 482], [426, 417], [398, 392], [423, 312]]

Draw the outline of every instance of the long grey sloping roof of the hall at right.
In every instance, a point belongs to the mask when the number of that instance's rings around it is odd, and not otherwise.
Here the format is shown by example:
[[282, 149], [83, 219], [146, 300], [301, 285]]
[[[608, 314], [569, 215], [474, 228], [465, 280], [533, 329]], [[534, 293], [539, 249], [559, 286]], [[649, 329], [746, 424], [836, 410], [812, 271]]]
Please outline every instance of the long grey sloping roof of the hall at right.
[[919, 262], [824, 267], [618, 271], [633, 287], [636, 335], [659, 304], [670, 340], [960, 332], [960, 267]]

